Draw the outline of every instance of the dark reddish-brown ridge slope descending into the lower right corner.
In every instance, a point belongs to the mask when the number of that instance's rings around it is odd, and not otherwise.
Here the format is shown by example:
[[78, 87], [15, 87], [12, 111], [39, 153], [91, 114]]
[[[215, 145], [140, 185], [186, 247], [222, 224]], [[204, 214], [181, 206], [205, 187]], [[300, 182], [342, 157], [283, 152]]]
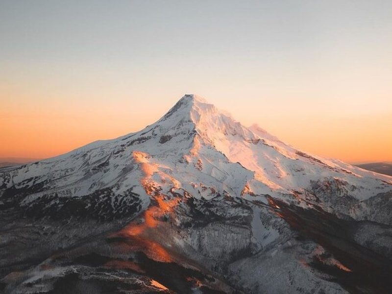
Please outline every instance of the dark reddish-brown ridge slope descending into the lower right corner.
[[[341, 220], [321, 209], [306, 210], [274, 201], [279, 205], [283, 218], [301, 237], [309, 238], [327, 249], [314, 257], [311, 265], [315, 269], [334, 276], [351, 293], [392, 291], [391, 250], [370, 241], [370, 238], [376, 237], [372, 230], [377, 228], [383, 235], [390, 235], [391, 227], [367, 221]], [[391, 237], [388, 239], [385, 243], [391, 244]], [[336, 267], [336, 264], [325, 263], [325, 259], [331, 256], [342, 265]]]

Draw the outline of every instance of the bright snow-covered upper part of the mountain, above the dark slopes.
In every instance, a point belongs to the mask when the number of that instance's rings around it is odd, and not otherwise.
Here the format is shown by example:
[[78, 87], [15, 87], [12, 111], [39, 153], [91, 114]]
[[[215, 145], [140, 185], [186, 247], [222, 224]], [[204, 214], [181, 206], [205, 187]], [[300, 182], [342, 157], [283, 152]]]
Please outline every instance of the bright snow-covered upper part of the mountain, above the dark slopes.
[[[139, 162], [140, 151], [146, 162]], [[120, 185], [119, 194], [133, 189], [147, 205], [150, 196], [139, 185], [145, 178], [140, 166], [152, 171], [151, 185], [166, 192], [173, 185], [195, 197], [210, 197], [204, 195], [204, 181], [220, 194], [271, 195], [287, 201], [307, 195], [312, 185], [322, 185], [320, 180], [324, 179], [344, 187], [344, 195], [358, 200], [392, 190], [390, 176], [302, 152], [260, 127], [246, 128], [195, 95], [185, 95], [161, 119], [141, 131], [96, 141], [20, 168], [4, 168], [13, 172], [8, 180], [1, 177], [0, 185], [26, 188], [45, 181], [58, 195], [76, 189], [73, 195], [83, 196], [116, 184]], [[24, 203], [40, 195], [30, 195]], [[307, 201], [300, 199], [301, 205], [308, 205]], [[333, 211], [336, 207], [327, 204], [324, 209]]]

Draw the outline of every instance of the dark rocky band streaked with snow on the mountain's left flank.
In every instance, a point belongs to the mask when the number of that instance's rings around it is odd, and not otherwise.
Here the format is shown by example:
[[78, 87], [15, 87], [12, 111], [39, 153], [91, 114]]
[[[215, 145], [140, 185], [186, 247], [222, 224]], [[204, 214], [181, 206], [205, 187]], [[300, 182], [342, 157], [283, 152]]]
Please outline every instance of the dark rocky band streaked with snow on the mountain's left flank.
[[132, 190], [116, 195], [113, 188], [99, 189], [83, 197], [61, 197], [57, 193], [38, 196], [28, 205], [21, 201], [29, 193], [42, 191], [45, 182], [27, 189], [6, 189], [0, 203], [1, 214], [32, 219], [111, 221], [129, 218], [141, 210], [140, 198]]

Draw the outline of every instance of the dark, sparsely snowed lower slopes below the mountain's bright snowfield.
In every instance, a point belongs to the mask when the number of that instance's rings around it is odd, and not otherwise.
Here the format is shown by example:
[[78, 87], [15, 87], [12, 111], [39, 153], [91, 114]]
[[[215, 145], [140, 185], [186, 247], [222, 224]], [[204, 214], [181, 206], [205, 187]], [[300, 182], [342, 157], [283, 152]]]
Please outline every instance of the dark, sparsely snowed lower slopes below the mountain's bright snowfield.
[[[110, 196], [108, 190], [100, 193], [95, 198]], [[133, 200], [136, 195], [130, 193], [129, 197]], [[119, 215], [105, 202], [88, 203], [96, 205], [93, 210], [99, 207], [102, 215], [111, 216], [104, 220], [78, 210], [84, 207], [81, 204], [71, 209], [59, 202], [59, 207], [66, 207], [49, 213], [49, 202], [38, 201], [42, 213], [32, 208], [25, 219], [9, 222], [1, 232], [3, 238], [9, 238], [1, 254], [2, 287], [5, 293], [31, 291], [38, 285], [48, 293], [192, 293], [196, 288], [201, 293], [260, 293], [265, 287], [272, 293], [281, 289], [299, 293], [392, 290], [391, 240], [384, 239], [384, 245], [376, 241], [377, 234], [392, 231], [390, 226], [342, 220], [319, 207], [303, 209], [269, 199], [269, 204], [220, 195], [210, 200], [184, 199], [143, 237], [121, 233], [132, 220], [143, 225], [143, 218], [138, 221], [139, 211], [130, 215], [119, 209], [124, 206], [121, 201], [113, 202]], [[68, 209], [71, 215], [66, 214]], [[127, 217], [123, 222], [113, 221]], [[34, 226], [28, 226], [33, 219]], [[370, 233], [376, 229], [376, 235]], [[13, 240], [11, 233], [17, 235]], [[19, 244], [22, 236], [28, 238], [28, 244]], [[154, 244], [164, 245], [171, 260], [151, 255], [149, 246], [156, 252], [163, 250]], [[8, 257], [17, 252], [22, 253], [17, 259]], [[28, 270], [32, 266], [36, 269]], [[37, 269], [62, 273], [34, 279]], [[261, 269], [272, 276], [260, 276]], [[24, 273], [17, 278], [12, 274], [16, 271]], [[311, 283], [303, 283], [310, 277]], [[25, 282], [29, 279], [31, 282]], [[151, 281], [166, 290], [151, 286]]]

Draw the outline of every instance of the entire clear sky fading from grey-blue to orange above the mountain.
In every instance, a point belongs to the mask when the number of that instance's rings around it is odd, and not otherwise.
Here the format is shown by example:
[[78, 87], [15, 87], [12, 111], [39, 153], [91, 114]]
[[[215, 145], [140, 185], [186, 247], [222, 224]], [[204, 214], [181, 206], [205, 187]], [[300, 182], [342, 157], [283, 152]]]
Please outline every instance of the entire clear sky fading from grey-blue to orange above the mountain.
[[158, 120], [184, 94], [299, 149], [392, 161], [390, 0], [0, 0], [0, 157]]

